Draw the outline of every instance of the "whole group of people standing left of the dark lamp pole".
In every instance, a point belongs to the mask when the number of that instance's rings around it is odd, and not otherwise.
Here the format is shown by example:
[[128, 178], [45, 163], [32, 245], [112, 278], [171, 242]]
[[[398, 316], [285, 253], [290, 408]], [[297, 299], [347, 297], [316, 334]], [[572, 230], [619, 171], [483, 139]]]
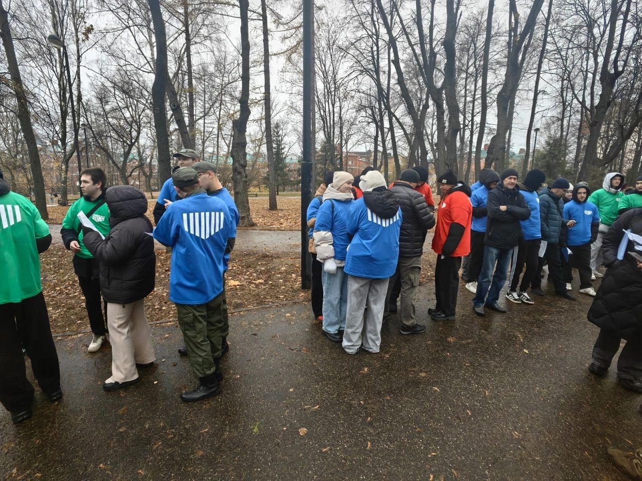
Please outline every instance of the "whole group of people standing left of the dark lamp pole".
[[[109, 342], [111, 375], [105, 391], [139, 381], [155, 363], [144, 299], [155, 285], [154, 239], [171, 248], [169, 299], [177, 308], [187, 355], [198, 384], [182, 392], [199, 401], [221, 392], [220, 360], [229, 349], [224, 275], [234, 248], [239, 213], [218, 180], [216, 165], [198, 162], [191, 149], [176, 153], [177, 167], [154, 208], [129, 185], [106, 188], [99, 168], [80, 173], [82, 196], [62, 223], [65, 248], [85, 298], [93, 333], [89, 353]], [[0, 174], [0, 263], [13, 282], [0, 287], [0, 403], [14, 423], [29, 419], [34, 389], [26, 378], [22, 349], [49, 401], [62, 398], [60, 369], [42, 296], [39, 253], [51, 233], [33, 204], [11, 192]]]

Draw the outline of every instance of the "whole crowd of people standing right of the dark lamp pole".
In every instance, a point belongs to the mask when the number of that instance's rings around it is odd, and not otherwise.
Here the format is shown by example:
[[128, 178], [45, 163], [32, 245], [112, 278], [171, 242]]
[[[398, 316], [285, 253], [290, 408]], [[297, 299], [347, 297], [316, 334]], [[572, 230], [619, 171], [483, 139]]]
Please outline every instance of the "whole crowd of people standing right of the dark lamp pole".
[[[573, 186], [565, 178], [544, 185], [546, 174], [539, 169], [521, 182], [514, 169], [483, 169], [471, 187], [448, 169], [437, 176], [437, 208], [432, 194], [424, 193], [427, 178], [425, 169], [415, 167], [386, 189], [383, 176], [370, 168], [357, 178], [325, 174], [307, 217], [313, 313], [330, 341], [342, 342], [349, 354], [379, 351], [381, 325], [397, 312], [399, 294], [399, 332], [426, 330], [417, 322], [415, 294], [426, 233], [434, 226], [436, 304], [428, 309], [433, 321], [455, 319], [462, 261], [462, 279], [475, 294], [478, 316], [487, 309], [507, 312], [499, 303], [507, 279], [505, 298], [512, 303], [535, 304], [529, 291], [546, 296], [545, 265], [555, 295], [575, 301], [569, 291], [577, 267], [579, 292], [594, 298], [589, 320], [600, 327], [589, 369], [605, 375], [626, 339], [618, 382], [642, 392], [642, 262], [623, 257], [636, 251], [624, 230], [642, 234], [642, 176], [625, 196], [621, 173], [607, 174], [602, 189], [591, 193], [586, 182]], [[598, 269], [602, 264], [609, 267], [606, 274]], [[593, 281], [604, 276], [596, 292]]]

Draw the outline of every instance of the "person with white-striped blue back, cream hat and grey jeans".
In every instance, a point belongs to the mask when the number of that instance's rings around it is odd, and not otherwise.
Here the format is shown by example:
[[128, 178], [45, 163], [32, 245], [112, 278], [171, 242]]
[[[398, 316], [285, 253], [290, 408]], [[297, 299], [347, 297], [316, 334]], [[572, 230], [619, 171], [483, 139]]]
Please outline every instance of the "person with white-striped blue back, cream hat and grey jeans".
[[352, 203], [347, 218], [348, 233], [354, 237], [343, 268], [348, 274], [343, 350], [348, 354], [358, 353], [361, 346], [379, 352], [388, 279], [397, 268], [402, 221], [399, 198], [386, 189], [381, 173], [370, 171], [361, 176], [361, 189], [363, 198]]

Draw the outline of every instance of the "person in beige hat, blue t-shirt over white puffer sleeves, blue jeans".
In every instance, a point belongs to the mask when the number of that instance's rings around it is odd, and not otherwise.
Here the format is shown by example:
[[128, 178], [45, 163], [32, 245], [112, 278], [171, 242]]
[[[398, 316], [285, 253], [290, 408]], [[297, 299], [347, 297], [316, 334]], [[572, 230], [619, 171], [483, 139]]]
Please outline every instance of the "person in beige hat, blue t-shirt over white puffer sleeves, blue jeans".
[[337, 171], [325, 189], [323, 203], [315, 222], [317, 260], [323, 263], [323, 331], [332, 342], [343, 341], [345, 310], [348, 301], [348, 278], [343, 273], [350, 238], [346, 219], [354, 200], [352, 175]]

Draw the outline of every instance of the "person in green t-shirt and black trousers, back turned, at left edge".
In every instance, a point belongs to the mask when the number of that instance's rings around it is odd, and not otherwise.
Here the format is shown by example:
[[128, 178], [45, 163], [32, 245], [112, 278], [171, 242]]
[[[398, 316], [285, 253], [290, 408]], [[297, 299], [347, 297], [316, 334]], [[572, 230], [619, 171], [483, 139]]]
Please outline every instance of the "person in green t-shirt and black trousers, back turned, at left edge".
[[0, 266], [9, 280], [0, 283], [0, 403], [13, 423], [31, 418], [33, 409], [23, 346], [40, 389], [51, 402], [62, 398], [38, 257], [50, 244], [49, 227], [38, 210], [12, 192], [0, 172]]

